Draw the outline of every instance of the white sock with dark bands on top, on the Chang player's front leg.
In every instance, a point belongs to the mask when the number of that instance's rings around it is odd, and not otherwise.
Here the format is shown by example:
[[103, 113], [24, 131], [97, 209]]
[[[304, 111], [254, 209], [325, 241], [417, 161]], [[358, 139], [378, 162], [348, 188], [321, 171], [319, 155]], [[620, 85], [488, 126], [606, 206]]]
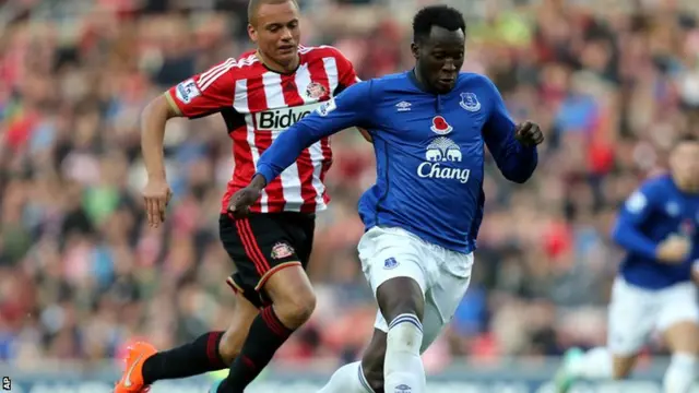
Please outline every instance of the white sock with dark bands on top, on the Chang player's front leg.
[[387, 393], [425, 393], [427, 380], [419, 357], [423, 324], [416, 315], [405, 313], [389, 324], [383, 364], [383, 390]]

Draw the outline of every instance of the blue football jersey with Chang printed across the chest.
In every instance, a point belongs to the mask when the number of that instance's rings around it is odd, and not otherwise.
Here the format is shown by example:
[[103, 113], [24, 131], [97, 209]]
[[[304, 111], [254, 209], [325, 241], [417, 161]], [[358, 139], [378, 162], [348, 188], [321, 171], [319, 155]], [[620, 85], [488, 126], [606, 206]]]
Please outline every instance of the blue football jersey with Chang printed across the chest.
[[412, 71], [348, 87], [280, 135], [258, 163], [272, 180], [303, 148], [352, 126], [365, 128], [376, 153], [376, 184], [359, 201], [367, 229], [404, 228], [459, 252], [475, 249], [485, 195], [484, 147], [503, 176], [524, 182], [535, 147], [514, 139], [514, 123], [487, 78], [461, 73], [443, 95], [420, 90]]

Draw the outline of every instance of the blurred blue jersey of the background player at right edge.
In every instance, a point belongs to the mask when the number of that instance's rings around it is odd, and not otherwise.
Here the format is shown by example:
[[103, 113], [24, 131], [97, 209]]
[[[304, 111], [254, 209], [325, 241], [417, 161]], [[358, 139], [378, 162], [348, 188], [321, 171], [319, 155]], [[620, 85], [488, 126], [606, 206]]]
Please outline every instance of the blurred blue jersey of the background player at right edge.
[[[626, 251], [620, 275], [647, 289], [662, 289], [691, 279], [692, 263], [699, 260], [699, 194], [679, 190], [671, 176], [645, 181], [621, 207], [612, 238]], [[692, 250], [680, 264], [655, 258], [657, 245], [671, 235], [691, 239]]]

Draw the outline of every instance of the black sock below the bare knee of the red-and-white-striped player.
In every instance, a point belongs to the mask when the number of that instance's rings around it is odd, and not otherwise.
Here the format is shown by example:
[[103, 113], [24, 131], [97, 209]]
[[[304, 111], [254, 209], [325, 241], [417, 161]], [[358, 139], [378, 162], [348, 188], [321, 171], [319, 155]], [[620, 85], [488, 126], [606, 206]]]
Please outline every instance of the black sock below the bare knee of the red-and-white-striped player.
[[216, 392], [242, 393], [293, 332], [280, 321], [272, 306], [264, 308], [252, 321], [240, 355], [230, 365], [228, 377], [218, 385]]

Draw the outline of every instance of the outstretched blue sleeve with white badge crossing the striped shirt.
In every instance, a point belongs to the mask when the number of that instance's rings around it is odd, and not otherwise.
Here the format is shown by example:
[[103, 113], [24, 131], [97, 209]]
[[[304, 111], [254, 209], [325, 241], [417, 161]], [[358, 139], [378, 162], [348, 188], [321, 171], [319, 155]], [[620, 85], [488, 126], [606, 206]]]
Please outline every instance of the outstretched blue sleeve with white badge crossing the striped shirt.
[[304, 148], [352, 126], [368, 124], [371, 84], [369, 81], [348, 87], [280, 134], [260, 157], [256, 177], [260, 175], [268, 184], [292, 165]]

